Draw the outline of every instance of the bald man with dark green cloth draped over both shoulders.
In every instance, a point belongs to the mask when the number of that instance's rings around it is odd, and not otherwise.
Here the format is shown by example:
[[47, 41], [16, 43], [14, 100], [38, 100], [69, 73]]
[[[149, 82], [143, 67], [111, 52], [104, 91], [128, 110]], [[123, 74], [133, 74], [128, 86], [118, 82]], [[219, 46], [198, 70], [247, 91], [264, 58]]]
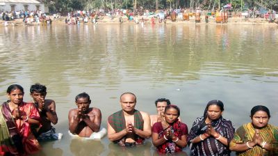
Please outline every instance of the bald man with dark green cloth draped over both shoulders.
[[120, 96], [121, 111], [108, 117], [108, 139], [120, 146], [134, 146], [144, 142], [152, 134], [149, 114], [134, 109], [136, 95]]

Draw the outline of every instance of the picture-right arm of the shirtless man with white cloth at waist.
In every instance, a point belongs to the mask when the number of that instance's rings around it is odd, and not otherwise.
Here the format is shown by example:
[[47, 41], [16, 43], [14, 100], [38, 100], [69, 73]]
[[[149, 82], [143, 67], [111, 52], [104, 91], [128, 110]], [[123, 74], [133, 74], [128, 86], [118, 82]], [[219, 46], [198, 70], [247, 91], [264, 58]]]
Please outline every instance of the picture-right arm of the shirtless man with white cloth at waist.
[[92, 131], [99, 132], [99, 127], [101, 124], [101, 111], [97, 108], [93, 108], [89, 114], [85, 114], [83, 120]]

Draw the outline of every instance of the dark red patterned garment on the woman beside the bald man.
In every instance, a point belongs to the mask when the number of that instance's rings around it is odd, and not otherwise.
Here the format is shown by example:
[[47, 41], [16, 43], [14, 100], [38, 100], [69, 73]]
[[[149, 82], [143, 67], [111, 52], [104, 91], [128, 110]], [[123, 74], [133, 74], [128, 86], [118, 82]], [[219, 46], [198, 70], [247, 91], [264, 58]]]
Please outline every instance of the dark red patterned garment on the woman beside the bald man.
[[[166, 134], [167, 129], [170, 129], [170, 131], [174, 134], [174, 136], [178, 137], [179, 139], [181, 139], [181, 136], [188, 134], [187, 125], [181, 123], [179, 120], [174, 122], [173, 125], [169, 125], [164, 130], [161, 122], [154, 123], [152, 127], [152, 132], [157, 133], [158, 139], [161, 139]], [[167, 140], [161, 146], [158, 146], [157, 150], [158, 153], [177, 153], [180, 152], [182, 148], [177, 146], [176, 143], [174, 143], [172, 140]]]

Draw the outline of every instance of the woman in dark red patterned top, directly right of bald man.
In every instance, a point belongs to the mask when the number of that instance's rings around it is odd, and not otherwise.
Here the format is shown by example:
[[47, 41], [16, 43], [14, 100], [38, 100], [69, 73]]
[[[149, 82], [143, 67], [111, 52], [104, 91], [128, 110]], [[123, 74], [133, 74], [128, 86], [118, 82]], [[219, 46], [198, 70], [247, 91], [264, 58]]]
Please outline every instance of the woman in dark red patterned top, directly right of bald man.
[[154, 123], [152, 127], [152, 143], [158, 153], [180, 152], [186, 146], [188, 127], [179, 121], [179, 107], [170, 104], [165, 107], [165, 120]]

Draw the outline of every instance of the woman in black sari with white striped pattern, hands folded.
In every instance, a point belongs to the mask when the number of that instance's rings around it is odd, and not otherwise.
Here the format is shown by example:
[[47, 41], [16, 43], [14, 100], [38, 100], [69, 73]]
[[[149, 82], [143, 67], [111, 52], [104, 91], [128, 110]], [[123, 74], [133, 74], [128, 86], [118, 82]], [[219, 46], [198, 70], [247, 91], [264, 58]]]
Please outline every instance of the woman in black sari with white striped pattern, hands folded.
[[206, 104], [204, 116], [194, 121], [187, 138], [193, 156], [230, 155], [235, 129], [230, 120], [222, 118], [223, 111], [223, 102], [212, 100]]

